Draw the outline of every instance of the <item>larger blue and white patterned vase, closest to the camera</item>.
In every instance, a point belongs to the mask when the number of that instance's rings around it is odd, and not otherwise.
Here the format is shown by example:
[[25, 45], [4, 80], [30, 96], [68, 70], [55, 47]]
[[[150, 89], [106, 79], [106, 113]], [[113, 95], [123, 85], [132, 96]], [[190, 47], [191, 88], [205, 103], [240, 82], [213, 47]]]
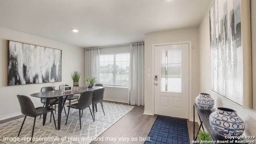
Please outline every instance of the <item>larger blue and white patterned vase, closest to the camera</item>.
[[244, 121], [233, 109], [218, 107], [209, 120], [212, 129], [221, 136], [240, 136], [244, 132]]

